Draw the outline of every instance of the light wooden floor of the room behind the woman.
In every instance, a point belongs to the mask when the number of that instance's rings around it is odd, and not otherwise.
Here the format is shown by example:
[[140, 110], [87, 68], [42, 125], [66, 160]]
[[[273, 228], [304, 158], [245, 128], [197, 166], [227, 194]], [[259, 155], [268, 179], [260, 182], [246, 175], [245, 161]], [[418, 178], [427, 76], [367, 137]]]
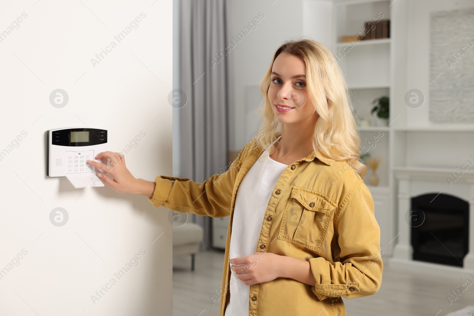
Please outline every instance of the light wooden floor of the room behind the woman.
[[[223, 251], [197, 254], [193, 272], [191, 256], [175, 256], [173, 316], [218, 316], [223, 266]], [[444, 316], [474, 305], [474, 284], [465, 285], [467, 278], [474, 282], [468, 274], [456, 279], [391, 271], [384, 265], [382, 286], [375, 295], [343, 298], [347, 316]], [[464, 292], [459, 291], [461, 294], [450, 305], [447, 297], [453, 297], [452, 291], [463, 285]]]

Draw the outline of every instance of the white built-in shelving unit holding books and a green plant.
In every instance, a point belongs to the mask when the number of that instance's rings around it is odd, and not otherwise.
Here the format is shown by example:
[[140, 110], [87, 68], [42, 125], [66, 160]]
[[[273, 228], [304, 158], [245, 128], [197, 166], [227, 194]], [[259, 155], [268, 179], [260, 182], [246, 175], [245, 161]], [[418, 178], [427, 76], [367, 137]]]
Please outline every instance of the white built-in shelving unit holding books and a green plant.
[[[394, 69], [393, 58], [393, 17], [392, 9], [396, 8], [389, 0], [354, 0], [354, 1], [333, 1], [333, 34], [335, 38], [331, 44], [334, 47], [333, 54], [339, 58], [343, 73], [345, 74], [351, 104], [359, 120], [368, 119], [372, 126], [359, 126], [361, 137], [361, 153], [369, 153], [369, 158], [380, 156], [382, 158], [376, 175], [379, 185], [369, 185], [368, 179], [371, 176], [370, 169], [365, 177], [365, 184], [371, 191], [374, 199], [375, 217], [381, 227], [381, 248], [388, 256], [392, 255], [392, 244], [389, 244], [395, 233], [394, 216], [394, 177], [391, 161], [393, 153], [392, 130], [393, 125], [378, 126], [378, 119], [370, 114], [374, 107], [372, 101], [375, 98], [387, 96], [390, 100], [391, 115], [388, 122], [393, 119], [393, 88], [399, 85], [392, 76]], [[341, 42], [342, 36], [356, 35], [363, 32], [365, 22], [371, 21], [374, 17], [381, 20], [390, 20], [391, 38], [360, 40], [355, 42]], [[341, 52], [343, 54], [341, 54]], [[347, 52], [347, 53], [346, 53]], [[396, 120], [395, 120], [396, 121]], [[375, 142], [373, 137], [378, 137]], [[368, 149], [368, 150], [367, 150]], [[366, 151], [367, 150], [367, 151]]]

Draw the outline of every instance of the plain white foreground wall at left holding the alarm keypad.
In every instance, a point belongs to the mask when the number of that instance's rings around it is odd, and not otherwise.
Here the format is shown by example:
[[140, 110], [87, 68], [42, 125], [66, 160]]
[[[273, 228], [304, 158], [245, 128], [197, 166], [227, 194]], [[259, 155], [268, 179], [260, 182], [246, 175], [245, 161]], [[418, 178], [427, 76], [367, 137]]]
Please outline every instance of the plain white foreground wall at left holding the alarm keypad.
[[[8, 151], [0, 161], [0, 269], [8, 269], [0, 315], [172, 315], [168, 210], [144, 196], [74, 189], [46, 176], [46, 130], [72, 126], [107, 129], [110, 151], [132, 143], [125, 157], [137, 178], [172, 174], [173, 2], [154, 2], [0, 4], [0, 32], [27, 15], [0, 43], [0, 151]], [[141, 12], [138, 27], [114, 40]], [[117, 47], [94, 67], [91, 58], [111, 41]], [[57, 88], [69, 95], [64, 108], [49, 103]], [[140, 131], [146, 136], [133, 146]], [[56, 207], [69, 214], [62, 227], [49, 220]], [[118, 279], [141, 249], [138, 265]], [[91, 296], [112, 278], [117, 283], [94, 304]]]

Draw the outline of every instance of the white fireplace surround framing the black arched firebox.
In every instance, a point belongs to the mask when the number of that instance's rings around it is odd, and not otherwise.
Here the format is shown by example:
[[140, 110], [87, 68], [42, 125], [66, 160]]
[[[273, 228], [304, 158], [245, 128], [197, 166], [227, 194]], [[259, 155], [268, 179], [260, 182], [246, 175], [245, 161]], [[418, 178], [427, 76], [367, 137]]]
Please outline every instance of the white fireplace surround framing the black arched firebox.
[[[466, 169], [466, 168], [464, 168]], [[463, 168], [433, 167], [394, 167], [394, 175], [398, 180], [399, 203], [397, 208], [398, 235], [397, 244], [390, 258], [391, 266], [402, 269], [411, 267], [414, 270], [451, 272], [464, 275], [474, 272], [474, 166], [463, 172]], [[454, 176], [453, 172], [456, 175]], [[448, 181], [447, 179], [452, 181]], [[463, 267], [447, 266], [431, 262], [412, 260], [413, 247], [410, 243], [411, 226], [405, 220], [405, 213], [411, 208], [411, 198], [420, 194], [445, 193], [469, 203], [469, 252], [466, 254]]]

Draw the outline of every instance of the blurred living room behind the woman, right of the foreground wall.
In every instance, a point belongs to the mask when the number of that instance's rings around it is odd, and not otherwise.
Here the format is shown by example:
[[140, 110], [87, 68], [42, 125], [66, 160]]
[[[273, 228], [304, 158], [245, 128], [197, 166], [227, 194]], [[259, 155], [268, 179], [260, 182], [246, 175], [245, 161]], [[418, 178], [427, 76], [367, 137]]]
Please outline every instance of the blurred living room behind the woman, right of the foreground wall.
[[[316, 40], [346, 76], [381, 228], [382, 287], [347, 315], [473, 315], [474, 1], [174, 0], [173, 18], [173, 176], [225, 172], [276, 48]], [[228, 217], [176, 214], [173, 315], [218, 315]]]

